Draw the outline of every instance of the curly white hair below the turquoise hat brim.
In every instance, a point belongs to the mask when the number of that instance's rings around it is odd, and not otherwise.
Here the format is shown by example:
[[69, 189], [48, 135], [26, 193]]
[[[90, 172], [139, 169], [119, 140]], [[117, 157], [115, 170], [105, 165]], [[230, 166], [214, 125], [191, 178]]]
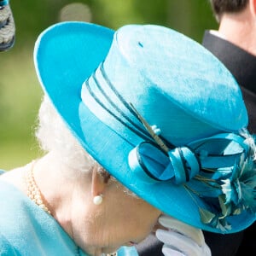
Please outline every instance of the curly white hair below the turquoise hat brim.
[[68, 129], [48, 96], [44, 96], [41, 103], [35, 135], [44, 152], [55, 152], [62, 162], [73, 169], [86, 171], [96, 164]]

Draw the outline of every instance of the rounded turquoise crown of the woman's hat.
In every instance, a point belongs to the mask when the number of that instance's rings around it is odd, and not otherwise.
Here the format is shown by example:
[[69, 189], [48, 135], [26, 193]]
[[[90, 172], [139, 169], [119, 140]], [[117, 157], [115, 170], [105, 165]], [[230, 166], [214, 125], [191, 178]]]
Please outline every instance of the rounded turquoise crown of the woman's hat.
[[[90, 90], [111, 113], [90, 104], [88, 93], [84, 103], [121, 136], [127, 137], [126, 128], [113, 116], [125, 123], [124, 114], [133, 119], [125, 106], [130, 103], [174, 145], [247, 125], [241, 91], [230, 72], [200, 44], [163, 26], [121, 27], [92, 76]], [[137, 136], [128, 133], [137, 143]]]

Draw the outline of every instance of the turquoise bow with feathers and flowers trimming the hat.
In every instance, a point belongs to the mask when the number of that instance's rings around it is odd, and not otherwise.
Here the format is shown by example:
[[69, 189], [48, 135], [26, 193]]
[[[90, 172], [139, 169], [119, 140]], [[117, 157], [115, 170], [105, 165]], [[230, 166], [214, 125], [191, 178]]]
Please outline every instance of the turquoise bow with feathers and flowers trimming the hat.
[[154, 133], [156, 125], [148, 125], [132, 108], [154, 139], [139, 143], [129, 154], [131, 171], [138, 178], [183, 185], [198, 205], [201, 222], [224, 232], [231, 229], [230, 216], [256, 212], [255, 143], [246, 131], [220, 133], [169, 149]]

